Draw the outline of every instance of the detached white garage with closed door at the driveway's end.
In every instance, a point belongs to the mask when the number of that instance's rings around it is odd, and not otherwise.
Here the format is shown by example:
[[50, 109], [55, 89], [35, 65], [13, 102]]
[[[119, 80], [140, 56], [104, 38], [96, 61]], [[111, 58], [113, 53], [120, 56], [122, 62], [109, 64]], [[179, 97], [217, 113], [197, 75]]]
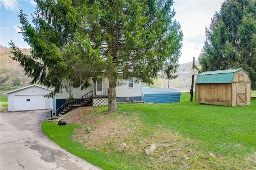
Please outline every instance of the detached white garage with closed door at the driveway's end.
[[8, 91], [8, 111], [52, 109], [52, 99], [44, 97], [52, 90], [40, 85], [29, 85]]

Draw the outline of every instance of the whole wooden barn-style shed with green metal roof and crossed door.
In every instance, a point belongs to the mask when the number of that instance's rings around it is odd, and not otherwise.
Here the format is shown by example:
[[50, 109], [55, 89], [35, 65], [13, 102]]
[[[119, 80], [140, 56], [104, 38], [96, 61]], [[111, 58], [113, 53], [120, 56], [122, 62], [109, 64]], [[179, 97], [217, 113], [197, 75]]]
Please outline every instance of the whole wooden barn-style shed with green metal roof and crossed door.
[[251, 79], [244, 69], [206, 71], [196, 78], [196, 103], [250, 105]]

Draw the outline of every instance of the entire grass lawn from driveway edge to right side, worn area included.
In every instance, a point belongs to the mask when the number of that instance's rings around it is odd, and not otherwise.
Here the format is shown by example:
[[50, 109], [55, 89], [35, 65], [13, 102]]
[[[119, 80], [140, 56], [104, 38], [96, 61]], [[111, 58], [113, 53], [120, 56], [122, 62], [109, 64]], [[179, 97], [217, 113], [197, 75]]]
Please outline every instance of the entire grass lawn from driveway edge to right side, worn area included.
[[[103, 169], [256, 169], [256, 100], [201, 105], [182, 93], [180, 103], [118, 105], [124, 114], [79, 109], [63, 117], [68, 126], [45, 121], [42, 130]], [[117, 150], [123, 142], [126, 148]], [[153, 143], [156, 150], [146, 155]]]

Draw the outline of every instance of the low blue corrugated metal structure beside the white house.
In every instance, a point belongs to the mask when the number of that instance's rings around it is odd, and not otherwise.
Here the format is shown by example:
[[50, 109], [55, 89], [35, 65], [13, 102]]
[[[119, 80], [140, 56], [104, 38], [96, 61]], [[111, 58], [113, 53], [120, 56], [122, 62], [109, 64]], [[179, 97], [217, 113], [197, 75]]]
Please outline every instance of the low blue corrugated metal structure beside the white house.
[[180, 102], [181, 92], [172, 88], [144, 88], [142, 89], [145, 103], [175, 103]]

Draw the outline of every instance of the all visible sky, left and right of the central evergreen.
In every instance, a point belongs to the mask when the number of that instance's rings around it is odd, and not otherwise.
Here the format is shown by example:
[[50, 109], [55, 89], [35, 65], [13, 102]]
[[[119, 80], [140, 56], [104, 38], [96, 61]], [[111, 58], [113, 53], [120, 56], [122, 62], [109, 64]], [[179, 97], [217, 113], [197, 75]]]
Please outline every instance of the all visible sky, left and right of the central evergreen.
[[[198, 59], [204, 45], [205, 27], [210, 26], [214, 13], [220, 11], [224, 0], [174, 0], [172, 8], [176, 11], [175, 19], [180, 23], [183, 32], [182, 54], [179, 63], [186, 63]], [[34, 0], [0, 0], [0, 45], [10, 47], [9, 42], [18, 47], [29, 47], [23, 41], [19, 28], [18, 15], [20, 9], [28, 14], [31, 22], [31, 14], [34, 13], [36, 3]]]

